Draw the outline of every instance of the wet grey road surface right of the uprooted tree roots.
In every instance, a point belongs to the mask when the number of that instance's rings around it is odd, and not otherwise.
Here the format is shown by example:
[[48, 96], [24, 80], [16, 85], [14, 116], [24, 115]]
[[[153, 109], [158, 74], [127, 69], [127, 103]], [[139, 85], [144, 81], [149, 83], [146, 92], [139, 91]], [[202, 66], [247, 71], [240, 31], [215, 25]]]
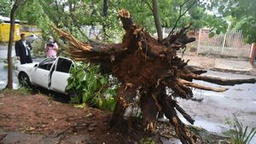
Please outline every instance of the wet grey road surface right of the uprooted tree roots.
[[[255, 78], [255, 76], [212, 71], [207, 72], [205, 75], [227, 79]], [[209, 84], [198, 80], [193, 82], [218, 87], [217, 84]], [[195, 125], [206, 130], [221, 133], [229, 129], [229, 125], [225, 123], [227, 120], [233, 120], [233, 114], [244, 126], [247, 125], [250, 129], [255, 128], [256, 84], [239, 84], [224, 87], [228, 88], [228, 90], [222, 93], [194, 89], [195, 98], [203, 98], [201, 102], [182, 99], [177, 99], [177, 101], [192, 118], [195, 118]], [[182, 119], [183, 122], [187, 123], [184, 118]], [[251, 143], [256, 143], [255, 137]]]

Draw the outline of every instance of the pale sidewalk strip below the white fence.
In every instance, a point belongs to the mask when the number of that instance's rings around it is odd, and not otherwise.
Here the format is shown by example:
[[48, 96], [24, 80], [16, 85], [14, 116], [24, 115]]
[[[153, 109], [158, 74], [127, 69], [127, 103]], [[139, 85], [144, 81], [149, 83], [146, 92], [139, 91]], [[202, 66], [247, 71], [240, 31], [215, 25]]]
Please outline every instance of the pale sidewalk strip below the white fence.
[[183, 59], [189, 60], [189, 66], [198, 66], [206, 70], [256, 76], [256, 68], [251, 65], [249, 60], [224, 59], [203, 55], [183, 55]]

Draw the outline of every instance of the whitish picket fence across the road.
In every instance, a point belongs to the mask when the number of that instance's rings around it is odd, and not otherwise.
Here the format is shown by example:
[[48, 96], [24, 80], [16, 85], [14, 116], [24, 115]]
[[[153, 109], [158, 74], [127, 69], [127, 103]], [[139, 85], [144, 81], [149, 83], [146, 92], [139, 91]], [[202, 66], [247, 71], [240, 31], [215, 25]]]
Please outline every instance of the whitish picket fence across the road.
[[209, 37], [209, 29], [201, 29], [198, 36], [198, 54], [250, 57], [252, 44], [244, 43], [241, 31]]

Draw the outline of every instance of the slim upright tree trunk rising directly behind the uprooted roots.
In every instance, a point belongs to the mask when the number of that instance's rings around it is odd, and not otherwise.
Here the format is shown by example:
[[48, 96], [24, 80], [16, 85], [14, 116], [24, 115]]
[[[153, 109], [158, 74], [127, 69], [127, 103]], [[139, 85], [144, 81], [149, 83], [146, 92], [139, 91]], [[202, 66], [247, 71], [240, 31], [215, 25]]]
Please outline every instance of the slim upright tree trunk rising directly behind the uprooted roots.
[[157, 9], [157, 0], [152, 0], [153, 3], [153, 15], [154, 15], [154, 24], [157, 31], [158, 40], [161, 41], [163, 39], [162, 26], [160, 23], [160, 16]]

